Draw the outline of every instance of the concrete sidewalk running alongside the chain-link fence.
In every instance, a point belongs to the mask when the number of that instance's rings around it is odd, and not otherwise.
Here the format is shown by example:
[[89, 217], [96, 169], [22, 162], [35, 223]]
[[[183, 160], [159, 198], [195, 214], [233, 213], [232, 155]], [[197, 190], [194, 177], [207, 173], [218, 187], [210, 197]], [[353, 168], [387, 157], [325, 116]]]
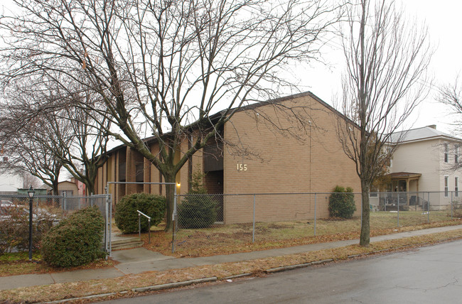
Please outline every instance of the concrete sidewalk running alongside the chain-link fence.
[[[462, 225], [423, 229], [412, 232], [400, 232], [397, 234], [387, 234], [380, 237], [371, 237], [370, 241], [375, 242], [389, 239], [403, 239], [405, 237], [415, 237], [424, 234], [448, 232], [456, 229], [462, 229]], [[193, 266], [248, 261], [253, 259], [267, 258], [270, 256], [285, 256], [289, 254], [300, 254], [307, 251], [332, 249], [336, 247], [348, 246], [351, 244], [358, 244], [358, 239], [333, 241], [320, 244], [308, 244], [281, 249], [245, 252], [240, 254], [205, 256], [200, 258], [174, 258], [173, 256], [163, 256], [162, 254], [149, 251], [144, 248], [127, 249], [114, 251], [112, 253], [112, 258], [116, 261], [119, 261], [120, 263], [112, 268], [4, 276], [0, 277], [0, 290], [14, 289], [26, 286], [50, 285], [54, 283], [89, 281], [99, 278], [117, 278], [126, 274], [142, 273], [144, 271], [163, 271], [168, 269], [178, 269]]]

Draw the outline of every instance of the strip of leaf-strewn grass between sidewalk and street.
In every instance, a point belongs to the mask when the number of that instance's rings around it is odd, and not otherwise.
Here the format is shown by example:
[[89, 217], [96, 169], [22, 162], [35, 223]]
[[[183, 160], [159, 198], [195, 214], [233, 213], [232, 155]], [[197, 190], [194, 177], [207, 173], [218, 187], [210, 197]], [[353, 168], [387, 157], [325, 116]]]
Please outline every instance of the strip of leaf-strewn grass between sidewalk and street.
[[[59, 283], [49, 286], [32, 286], [17, 288], [9, 291], [0, 291], [0, 301], [9, 300], [13, 303], [21, 302], [45, 302], [60, 300], [64, 298], [82, 297], [100, 293], [119, 293], [128, 291], [120, 296], [132, 296], [134, 293], [131, 288], [159, 285], [165, 283], [192, 280], [195, 278], [205, 278], [217, 276], [225, 278], [241, 273], [253, 273], [259, 275], [269, 268], [289, 266], [295, 264], [309, 263], [311, 261], [321, 261], [324, 259], [334, 259], [340, 261], [348, 259], [348, 256], [370, 254], [381, 250], [401, 250], [416, 246], [432, 244], [447, 239], [462, 238], [462, 229], [451, 232], [441, 232], [428, 234], [419, 237], [409, 237], [405, 239], [394, 239], [380, 241], [370, 244], [369, 247], [359, 245], [344, 246], [335, 249], [325, 249], [319, 251], [308, 251], [303, 254], [292, 254], [289, 256], [276, 256], [267, 259], [256, 259], [253, 261], [242, 261], [237, 263], [225, 263], [218, 265], [198, 266], [183, 269], [173, 269], [168, 271], [148, 271], [134, 275], [122, 276], [119, 278], [107, 278], [85, 282]], [[80, 302], [79, 302], [80, 303]]]

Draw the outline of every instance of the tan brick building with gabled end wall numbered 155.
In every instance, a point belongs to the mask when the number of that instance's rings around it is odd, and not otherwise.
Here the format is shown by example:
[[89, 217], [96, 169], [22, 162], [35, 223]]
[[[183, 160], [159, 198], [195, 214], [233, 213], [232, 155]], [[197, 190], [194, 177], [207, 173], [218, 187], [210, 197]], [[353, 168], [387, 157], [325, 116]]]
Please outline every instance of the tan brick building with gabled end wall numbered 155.
[[[178, 194], [188, 192], [193, 170], [202, 170], [208, 192], [225, 194], [219, 218], [231, 224], [251, 222], [252, 203], [228, 194], [331, 192], [335, 185], [359, 192], [355, 164], [345, 156], [335, 131], [340, 113], [311, 92], [276, 101], [283, 107], [261, 102], [236, 112], [221, 130], [223, 142], [210, 143], [195, 153], [178, 173]], [[303, 124], [298, 119], [308, 121]], [[146, 145], [153, 153], [159, 151], [156, 139], [146, 139]], [[187, 148], [185, 139], [181, 150]], [[159, 183], [163, 179], [154, 165], [122, 145], [109, 151], [107, 163], [100, 168], [97, 193], [104, 193], [108, 181]], [[165, 194], [165, 188], [109, 185], [109, 192], [117, 202], [134, 192]], [[317, 216], [328, 216], [328, 195], [318, 195], [317, 203]], [[312, 219], [313, 205], [313, 195], [265, 195], [256, 202], [256, 220]]]

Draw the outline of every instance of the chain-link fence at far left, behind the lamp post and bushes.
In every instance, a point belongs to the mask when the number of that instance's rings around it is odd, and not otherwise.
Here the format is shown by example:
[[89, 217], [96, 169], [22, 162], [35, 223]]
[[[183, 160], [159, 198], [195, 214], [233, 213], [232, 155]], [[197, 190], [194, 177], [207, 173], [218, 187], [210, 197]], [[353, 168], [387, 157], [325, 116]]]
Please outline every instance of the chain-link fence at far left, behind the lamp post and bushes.
[[[15, 215], [28, 215], [30, 198], [28, 195], [0, 195], [0, 226], [1, 222], [8, 223], [11, 213]], [[110, 195], [91, 196], [67, 196], [63, 195], [34, 195], [33, 196], [33, 221], [47, 218], [58, 223], [77, 210], [96, 205], [104, 218], [104, 239], [102, 246], [104, 251], [111, 254], [111, 226], [112, 208]], [[0, 231], [6, 234], [7, 231]], [[0, 239], [11, 239], [14, 236], [1, 235]], [[0, 244], [1, 245], [1, 244]], [[10, 249], [11, 250], [11, 249]], [[21, 250], [21, 249], [13, 249]]]

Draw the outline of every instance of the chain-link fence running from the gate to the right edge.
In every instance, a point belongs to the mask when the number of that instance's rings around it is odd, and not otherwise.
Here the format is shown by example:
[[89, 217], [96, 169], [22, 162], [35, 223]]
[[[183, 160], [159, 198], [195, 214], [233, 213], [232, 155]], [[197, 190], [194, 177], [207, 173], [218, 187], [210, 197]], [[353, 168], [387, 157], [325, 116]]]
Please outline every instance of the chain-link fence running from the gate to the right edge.
[[[330, 192], [178, 195], [173, 250], [246, 246], [326, 234], [358, 234], [361, 193], [352, 219], [329, 217]], [[370, 229], [393, 229], [462, 217], [459, 192], [370, 193]]]

